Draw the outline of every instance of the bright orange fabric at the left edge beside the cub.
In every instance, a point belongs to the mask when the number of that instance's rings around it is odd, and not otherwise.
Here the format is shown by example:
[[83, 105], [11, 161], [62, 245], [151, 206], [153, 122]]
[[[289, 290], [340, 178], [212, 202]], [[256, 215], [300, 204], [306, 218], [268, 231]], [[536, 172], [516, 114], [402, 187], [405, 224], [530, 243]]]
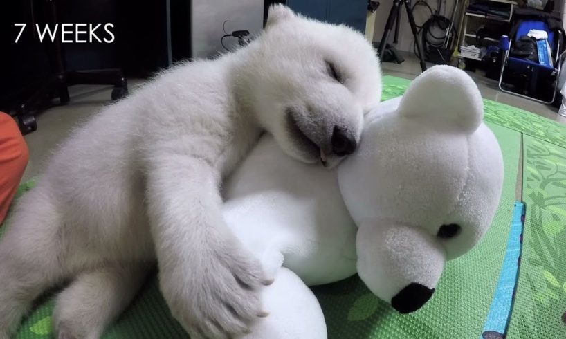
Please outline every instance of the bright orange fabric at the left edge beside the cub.
[[4, 221], [28, 165], [28, 147], [18, 125], [0, 112], [0, 223]]

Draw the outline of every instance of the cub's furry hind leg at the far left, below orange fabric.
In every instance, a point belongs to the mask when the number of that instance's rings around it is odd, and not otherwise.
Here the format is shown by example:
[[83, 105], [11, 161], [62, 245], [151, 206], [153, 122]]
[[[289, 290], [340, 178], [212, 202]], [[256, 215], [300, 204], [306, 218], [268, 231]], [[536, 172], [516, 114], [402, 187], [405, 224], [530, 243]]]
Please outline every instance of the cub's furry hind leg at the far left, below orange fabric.
[[46, 187], [20, 201], [0, 240], [0, 339], [17, 330], [33, 300], [69, 277], [60, 211]]

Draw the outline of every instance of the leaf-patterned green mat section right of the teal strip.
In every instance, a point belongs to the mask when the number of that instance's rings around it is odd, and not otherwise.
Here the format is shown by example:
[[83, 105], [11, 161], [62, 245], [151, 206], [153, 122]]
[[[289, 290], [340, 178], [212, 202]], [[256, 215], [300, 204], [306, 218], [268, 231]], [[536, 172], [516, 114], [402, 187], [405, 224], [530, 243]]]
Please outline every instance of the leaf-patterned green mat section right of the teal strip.
[[566, 149], [523, 140], [527, 214], [509, 338], [566, 338]]

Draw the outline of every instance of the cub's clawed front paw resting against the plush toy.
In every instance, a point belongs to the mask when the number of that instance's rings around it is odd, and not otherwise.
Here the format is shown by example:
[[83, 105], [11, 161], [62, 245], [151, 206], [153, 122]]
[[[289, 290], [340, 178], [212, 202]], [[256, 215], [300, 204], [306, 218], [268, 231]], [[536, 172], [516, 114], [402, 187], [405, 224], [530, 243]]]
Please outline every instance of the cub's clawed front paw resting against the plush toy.
[[185, 267], [161, 275], [161, 285], [172, 314], [192, 338], [249, 333], [252, 322], [268, 315], [259, 292], [273, 280], [264, 279], [259, 262], [239, 244], [214, 249]]

